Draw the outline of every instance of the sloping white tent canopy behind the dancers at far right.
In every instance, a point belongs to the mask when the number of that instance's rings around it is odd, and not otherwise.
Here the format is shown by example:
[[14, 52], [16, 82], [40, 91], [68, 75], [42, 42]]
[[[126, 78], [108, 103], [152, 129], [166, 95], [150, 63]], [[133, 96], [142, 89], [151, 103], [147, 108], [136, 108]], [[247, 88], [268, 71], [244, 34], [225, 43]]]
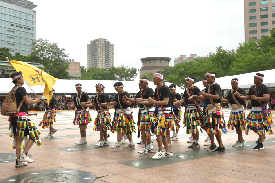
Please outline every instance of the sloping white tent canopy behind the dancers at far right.
[[[270, 87], [275, 87], [275, 69], [267, 70], [267, 71], [258, 71], [258, 72], [251, 72], [246, 74], [238, 74], [233, 76], [226, 76], [221, 78], [216, 78], [215, 81], [221, 86], [222, 90], [231, 89], [231, 81], [233, 78], [238, 78], [239, 84], [238, 86], [243, 89], [248, 89], [254, 85], [254, 75], [256, 73], [264, 74], [265, 77], [263, 79], [263, 84]], [[204, 89], [202, 85], [202, 81], [194, 83], [195, 86], [199, 87], [200, 90]]]

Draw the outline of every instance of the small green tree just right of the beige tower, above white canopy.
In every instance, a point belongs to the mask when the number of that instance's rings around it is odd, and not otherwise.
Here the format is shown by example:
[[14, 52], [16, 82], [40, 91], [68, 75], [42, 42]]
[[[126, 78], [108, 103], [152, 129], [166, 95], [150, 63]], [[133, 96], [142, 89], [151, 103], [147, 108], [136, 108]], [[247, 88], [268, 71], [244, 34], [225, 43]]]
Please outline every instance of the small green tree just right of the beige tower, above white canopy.
[[128, 68], [128, 66], [120, 65], [119, 67], [112, 66], [109, 69], [109, 75], [118, 81], [134, 81], [138, 73], [134, 67]]

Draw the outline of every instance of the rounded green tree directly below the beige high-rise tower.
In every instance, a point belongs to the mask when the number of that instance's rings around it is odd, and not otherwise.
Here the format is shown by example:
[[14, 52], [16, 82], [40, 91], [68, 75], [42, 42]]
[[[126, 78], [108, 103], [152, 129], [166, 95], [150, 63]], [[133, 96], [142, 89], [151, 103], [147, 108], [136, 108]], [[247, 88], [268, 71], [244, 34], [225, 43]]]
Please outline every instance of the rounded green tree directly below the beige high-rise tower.
[[110, 77], [109, 72], [105, 68], [90, 67], [86, 73], [81, 74], [81, 80], [115, 80]]

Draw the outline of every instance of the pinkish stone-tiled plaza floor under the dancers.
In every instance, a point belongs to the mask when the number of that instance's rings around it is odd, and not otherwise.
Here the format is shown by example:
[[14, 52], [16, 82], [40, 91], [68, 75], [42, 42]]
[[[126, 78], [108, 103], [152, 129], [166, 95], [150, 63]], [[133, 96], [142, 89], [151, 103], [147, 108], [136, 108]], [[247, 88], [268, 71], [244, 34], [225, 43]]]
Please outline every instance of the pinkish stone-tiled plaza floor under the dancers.
[[[182, 107], [184, 111], [184, 108]], [[224, 117], [228, 121], [230, 109], [224, 108]], [[133, 117], [137, 122], [138, 109], [132, 108]], [[249, 110], [245, 110], [248, 114]], [[275, 111], [272, 111], [275, 114]], [[30, 112], [34, 113], [34, 112]], [[37, 112], [37, 116], [30, 118], [38, 126], [43, 118], [44, 112]], [[114, 109], [110, 109], [114, 113]], [[186, 134], [186, 127], [181, 121], [179, 140], [172, 141], [170, 147], [174, 157], [162, 157], [153, 160], [155, 153], [138, 154], [142, 145], [137, 142], [138, 133], [133, 134], [136, 149], [124, 150], [123, 147], [129, 144], [126, 140], [120, 150], [113, 150], [108, 147], [97, 147], [94, 144], [100, 139], [98, 131], [94, 131], [94, 119], [97, 112], [90, 109], [92, 123], [86, 129], [87, 144], [75, 145], [80, 139], [79, 127], [72, 124], [75, 111], [56, 111], [56, 122], [54, 128], [58, 131], [53, 138], [45, 139], [49, 129], [38, 129], [42, 145], [32, 146], [29, 154], [34, 159], [28, 166], [15, 168], [15, 162], [4, 162], [4, 156], [0, 155], [0, 181], [11, 176], [42, 170], [80, 170], [95, 174], [96, 183], [119, 182], [238, 182], [238, 183], [272, 183], [275, 182], [275, 133], [267, 135], [268, 140], [263, 143], [265, 150], [252, 150], [259, 138], [257, 134], [250, 131], [249, 135], [243, 133], [246, 144], [242, 147], [232, 147], [237, 141], [236, 131], [228, 129], [229, 133], [222, 135], [222, 141], [226, 147], [225, 152], [208, 152], [210, 146], [203, 144], [206, 132], [200, 133], [200, 149], [192, 150], [186, 143], [189, 134]], [[113, 116], [111, 116], [112, 118]], [[8, 117], [0, 116], [0, 153], [15, 153], [10, 148], [13, 139], [9, 137]], [[275, 130], [275, 125], [272, 125]], [[136, 126], [138, 129], [138, 126]], [[110, 146], [117, 141], [117, 135], [108, 132]], [[152, 137], [153, 146], [158, 150], [155, 136]], [[215, 139], [216, 142], [216, 139]], [[218, 143], [216, 142], [216, 145]], [[76, 175], [77, 176], [77, 175]], [[19, 181], [18, 181], [19, 182]]]

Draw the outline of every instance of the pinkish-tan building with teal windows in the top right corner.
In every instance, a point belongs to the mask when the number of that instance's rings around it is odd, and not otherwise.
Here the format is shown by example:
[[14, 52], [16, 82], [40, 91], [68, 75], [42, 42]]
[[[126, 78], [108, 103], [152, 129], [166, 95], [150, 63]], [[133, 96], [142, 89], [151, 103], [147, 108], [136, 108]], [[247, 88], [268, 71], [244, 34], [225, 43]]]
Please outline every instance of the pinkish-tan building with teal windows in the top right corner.
[[269, 36], [270, 29], [275, 29], [275, 0], [244, 0], [245, 41]]

